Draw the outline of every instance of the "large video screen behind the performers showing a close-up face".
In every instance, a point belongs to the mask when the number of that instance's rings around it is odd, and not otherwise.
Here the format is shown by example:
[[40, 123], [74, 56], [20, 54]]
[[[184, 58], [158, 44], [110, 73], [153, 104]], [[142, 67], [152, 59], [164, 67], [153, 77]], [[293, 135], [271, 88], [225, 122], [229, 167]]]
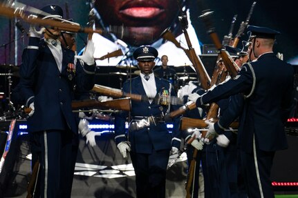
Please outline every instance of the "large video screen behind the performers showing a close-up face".
[[[189, 48], [189, 43], [185, 40], [183, 30], [187, 30], [192, 48], [196, 54], [206, 53], [203, 49], [205, 45], [212, 45], [207, 33], [204, 21], [199, 17], [204, 10], [213, 11], [212, 26], [219, 39], [225, 35], [235, 37], [239, 31], [242, 21], [247, 21], [250, 8], [254, 1], [215, 1], [215, 0], [151, 0], [151, 1], [118, 1], [118, 0], [97, 0], [91, 1], [17, 1], [22, 5], [33, 8], [42, 8], [48, 3], [57, 4], [64, 10], [65, 19], [73, 19], [86, 26], [89, 21], [91, 7], [95, 9], [95, 26], [103, 28], [106, 33], [95, 34], [96, 52], [95, 57], [100, 58], [119, 48], [124, 55], [98, 60], [99, 66], [116, 66], [121, 64], [134, 64], [131, 57], [133, 50], [141, 45], [152, 45], [158, 48], [159, 58], [168, 55], [169, 65], [182, 66], [190, 64], [189, 59], [183, 52], [183, 48]], [[249, 25], [267, 26], [281, 32], [277, 37], [275, 52], [283, 54], [283, 59], [297, 64], [298, 50], [295, 31], [291, 24], [295, 24], [293, 18], [295, 6], [291, 6], [290, 0], [283, 3], [277, 1], [256, 1], [254, 10], [251, 13]], [[182, 12], [181, 12], [182, 11]], [[184, 16], [183, 20], [181, 16]], [[232, 19], [236, 16], [234, 27]], [[21, 64], [21, 52], [27, 45], [29, 25], [21, 22], [25, 32], [21, 32], [15, 23], [17, 19], [8, 19], [0, 14], [0, 63], [19, 66]], [[122, 28], [121, 28], [122, 27]], [[168, 28], [174, 35], [176, 41], [170, 41], [161, 34]], [[167, 32], [167, 30], [166, 30]], [[242, 48], [241, 41], [247, 40], [246, 30], [240, 37], [238, 48]], [[177, 47], [174, 42], [180, 45]], [[77, 34], [77, 52], [84, 48], [86, 34]], [[125, 59], [127, 59], [125, 61]], [[157, 59], [159, 61], [159, 59]], [[157, 63], [158, 64], [158, 63]]]

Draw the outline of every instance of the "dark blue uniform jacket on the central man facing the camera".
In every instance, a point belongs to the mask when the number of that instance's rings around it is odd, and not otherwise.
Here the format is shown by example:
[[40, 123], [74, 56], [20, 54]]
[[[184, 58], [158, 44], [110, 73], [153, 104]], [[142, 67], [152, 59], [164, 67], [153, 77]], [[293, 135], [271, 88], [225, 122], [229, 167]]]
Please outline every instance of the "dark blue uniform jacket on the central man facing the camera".
[[[162, 90], [169, 90], [170, 94], [176, 96], [173, 88], [170, 89], [169, 81], [155, 77], [157, 93]], [[146, 95], [145, 89], [142, 86], [142, 79], [139, 77], [126, 81], [123, 84], [122, 91], [127, 93]], [[172, 107], [177, 108], [177, 107]], [[149, 103], [149, 101], [138, 102], [131, 101], [131, 119], [133, 117], [160, 117], [162, 113], [166, 113], [167, 107], [160, 106], [160, 104]], [[122, 112], [115, 116], [115, 142], [118, 144], [121, 141], [127, 141], [125, 135], [127, 129], [125, 128], [125, 121], [127, 120], [128, 112]], [[171, 146], [180, 148], [180, 133], [178, 130], [178, 119], [174, 119], [174, 130], [169, 133], [167, 124], [165, 122], [158, 122], [148, 128], [142, 128], [136, 131], [129, 131], [129, 141], [131, 142], [131, 150], [138, 153], [151, 153], [152, 147], [155, 150], [170, 150]]]

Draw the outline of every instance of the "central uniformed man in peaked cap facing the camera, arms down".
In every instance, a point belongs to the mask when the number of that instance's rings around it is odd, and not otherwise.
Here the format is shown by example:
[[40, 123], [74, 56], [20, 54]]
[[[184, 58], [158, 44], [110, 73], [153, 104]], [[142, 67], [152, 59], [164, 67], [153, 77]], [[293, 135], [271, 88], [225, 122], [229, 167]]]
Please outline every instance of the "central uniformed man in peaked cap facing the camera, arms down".
[[[136, 173], [136, 195], [138, 198], [165, 197], [165, 181], [170, 152], [178, 153], [180, 134], [178, 119], [174, 119], [172, 133], [162, 121], [171, 108], [169, 99], [176, 96], [171, 83], [154, 77], [154, 59], [158, 51], [151, 46], [142, 46], [133, 52], [138, 61], [140, 76], [126, 81], [123, 92], [153, 98], [159, 95], [160, 102], [131, 101], [131, 123], [126, 132], [125, 121], [129, 112], [115, 115], [115, 142], [124, 158], [130, 153]], [[176, 107], [178, 108], [178, 107]]]

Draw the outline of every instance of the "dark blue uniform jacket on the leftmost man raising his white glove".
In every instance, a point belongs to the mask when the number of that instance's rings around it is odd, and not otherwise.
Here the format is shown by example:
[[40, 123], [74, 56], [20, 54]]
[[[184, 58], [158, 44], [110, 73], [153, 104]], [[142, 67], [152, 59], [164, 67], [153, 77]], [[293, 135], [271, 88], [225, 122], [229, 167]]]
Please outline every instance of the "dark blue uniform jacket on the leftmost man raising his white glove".
[[91, 90], [94, 86], [94, 67], [80, 65], [77, 61], [75, 72], [68, 68], [74, 62], [74, 52], [62, 48], [62, 72], [59, 71], [52, 52], [43, 39], [30, 37], [29, 46], [22, 55], [20, 75], [24, 79], [21, 92], [26, 105], [34, 101], [35, 112], [28, 118], [28, 131], [65, 130], [77, 133], [71, 100], [74, 86], [80, 90]]

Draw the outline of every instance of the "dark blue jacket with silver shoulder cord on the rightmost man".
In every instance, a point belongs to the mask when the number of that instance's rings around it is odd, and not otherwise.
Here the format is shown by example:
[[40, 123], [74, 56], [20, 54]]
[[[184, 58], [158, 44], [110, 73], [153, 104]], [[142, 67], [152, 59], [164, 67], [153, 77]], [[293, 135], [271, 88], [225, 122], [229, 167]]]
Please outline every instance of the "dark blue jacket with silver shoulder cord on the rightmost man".
[[245, 64], [235, 79], [216, 86], [196, 101], [202, 103], [218, 101], [243, 92], [252, 95], [245, 99], [239, 126], [238, 143], [241, 150], [252, 152], [255, 135], [259, 150], [275, 151], [288, 147], [283, 122], [292, 104], [294, 71], [290, 64], [278, 59], [274, 53], [261, 55], [251, 62], [252, 69]]

